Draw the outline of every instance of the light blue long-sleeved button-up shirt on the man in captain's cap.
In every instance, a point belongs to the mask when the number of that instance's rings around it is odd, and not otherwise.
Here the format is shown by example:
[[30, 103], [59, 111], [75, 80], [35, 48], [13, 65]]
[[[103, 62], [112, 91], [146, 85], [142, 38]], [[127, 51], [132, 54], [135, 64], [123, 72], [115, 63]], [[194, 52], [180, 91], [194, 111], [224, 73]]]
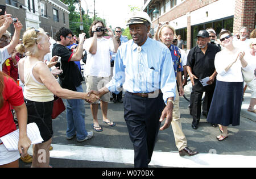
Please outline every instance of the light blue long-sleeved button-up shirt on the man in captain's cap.
[[115, 56], [114, 76], [106, 88], [117, 92], [121, 86], [130, 93], [150, 93], [160, 89], [164, 102], [175, 97], [174, 66], [166, 45], [150, 38], [141, 50], [133, 40], [122, 44]]

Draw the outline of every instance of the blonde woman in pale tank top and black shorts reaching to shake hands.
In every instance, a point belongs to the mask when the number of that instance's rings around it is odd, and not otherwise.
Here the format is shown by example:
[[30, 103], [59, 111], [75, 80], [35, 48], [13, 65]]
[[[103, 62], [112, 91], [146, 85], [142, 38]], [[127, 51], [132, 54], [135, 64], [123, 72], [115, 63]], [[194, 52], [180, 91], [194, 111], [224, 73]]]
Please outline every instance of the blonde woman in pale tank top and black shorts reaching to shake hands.
[[[53, 94], [65, 99], [85, 99], [94, 102], [87, 93], [79, 93], [63, 89], [43, 62], [43, 57], [50, 51], [49, 38], [43, 29], [28, 29], [23, 34], [23, 44], [18, 46], [19, 52], [26, 51], [26, 59], [19, 63], [20, 80], [24, 83], [24, 98], [28, 110], [28, 123], [35, 122], [40, 130], [43, 143], [36, 144], [33, 148], [33, 160], [31, 167], [49, 167], [49, 147], [52, 141], [52, 106]], [[86, 136], [84, 140], [92, 138], [93, 134]], [[40, 151], [39, 151], [40, 150]], [[45, 153], [46, 160], [40, 161], [38, 157]]]

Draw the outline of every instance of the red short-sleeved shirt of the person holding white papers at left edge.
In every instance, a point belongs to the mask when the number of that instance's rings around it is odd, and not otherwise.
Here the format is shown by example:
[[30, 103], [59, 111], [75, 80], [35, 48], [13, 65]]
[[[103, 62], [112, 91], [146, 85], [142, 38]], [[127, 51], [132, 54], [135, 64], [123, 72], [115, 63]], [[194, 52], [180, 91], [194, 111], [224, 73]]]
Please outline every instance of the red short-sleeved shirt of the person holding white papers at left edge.
[[24, 103], [22, 88], [11, 78], [4, 77], [3, 107], [0, 109], [0, 137], [16, 130], [10, 105], [20, 106]]

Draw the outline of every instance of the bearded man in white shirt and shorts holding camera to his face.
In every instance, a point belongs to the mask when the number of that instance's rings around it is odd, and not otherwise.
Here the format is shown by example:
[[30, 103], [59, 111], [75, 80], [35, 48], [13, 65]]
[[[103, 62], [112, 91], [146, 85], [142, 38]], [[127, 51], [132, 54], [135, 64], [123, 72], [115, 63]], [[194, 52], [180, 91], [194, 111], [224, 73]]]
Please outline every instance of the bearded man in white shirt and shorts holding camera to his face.
[[[106, 32], [108, 31], [108, 32]], [[110, 39], [105, 39], [104, 34], [108, 34]], [[109, 51], [117, 52], [118, 43], [111, 28], [105, 28], [104, 23], [100, 20], [95, 20], [90, 27], [91, 38], [86, 39], [84, 49], [87, 52], [87, 60], [85, 65], [85, 77], [87, 91], [99, 90], [110, 81], [110, 55]], [[110, 94], [102, 95], [101, 111], [103, 122], [109, 126], [115, 126], [112, 120], [108, 119], [108, 102]], [[92, 103], [90, 109], [93, 115], [93, 130], [102, 131], [102, 127], [98, 123], [98, 102]]]

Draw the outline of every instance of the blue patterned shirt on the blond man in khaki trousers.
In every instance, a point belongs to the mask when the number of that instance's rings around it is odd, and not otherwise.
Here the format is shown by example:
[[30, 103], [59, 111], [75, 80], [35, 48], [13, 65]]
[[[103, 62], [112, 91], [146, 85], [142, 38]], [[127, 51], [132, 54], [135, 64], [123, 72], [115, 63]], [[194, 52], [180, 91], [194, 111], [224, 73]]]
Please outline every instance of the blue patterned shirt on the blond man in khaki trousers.
[[182, 72], [183, 71], [179, 48], [177, 48], [175, 45], [171, 44], [169, 49], [170, 49], [171, 55], [172, 55], [172, 62], [174, 64], [175, 76], [177, 76], [177, 72]]

